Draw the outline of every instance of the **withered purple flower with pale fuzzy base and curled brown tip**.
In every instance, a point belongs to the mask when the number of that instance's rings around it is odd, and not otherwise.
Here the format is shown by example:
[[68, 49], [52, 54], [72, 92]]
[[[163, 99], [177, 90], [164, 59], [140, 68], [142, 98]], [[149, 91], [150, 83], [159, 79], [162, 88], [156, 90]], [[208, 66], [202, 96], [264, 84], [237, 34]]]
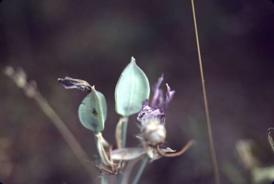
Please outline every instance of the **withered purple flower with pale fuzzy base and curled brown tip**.
[[148, 104], [148, 99], [144, 100], [142, 102], [142, 109], [137, 117], [137, 122], [141, 130], [138, 137], [141, 140], [146, 154], [152, 160], [159, 159], [161, 156], [170, 157], [181, 155], [194, 144], [194, 141], [190, 141], [181, 151], [170, 154], [166, 153], [175, 152], [175, 150], [170, 148], [160, 148], [160, 145], [165, 142], [166, 138], [165, 111], [175, 94], [175, 90], [171, 90], [169, 85], [166, 83], [167, 91], [164, 100], [163, 90], [160, 89], [163, 80], [164, 77], [162, 75], [153, 87], [154, 95], [151, 104]]

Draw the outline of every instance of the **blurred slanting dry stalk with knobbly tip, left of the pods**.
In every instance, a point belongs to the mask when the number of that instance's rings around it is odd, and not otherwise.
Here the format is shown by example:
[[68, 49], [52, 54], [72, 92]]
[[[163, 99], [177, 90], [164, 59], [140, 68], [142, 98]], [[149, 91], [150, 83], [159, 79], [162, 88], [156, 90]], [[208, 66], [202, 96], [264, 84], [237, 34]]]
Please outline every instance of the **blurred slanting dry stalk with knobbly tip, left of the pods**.
[[58, 114], [54, 111], [54, 109], [48, 104], [48, 102], [43, 98], [43, 96], [36, 89], [36, 83], [34, 81], [28, 82], [26, 73], [22, 69], [18, 71], [14, 71], [13, 67], [8, 66], [4, 71], [5, 75], [10, 77], [16, 85], [23, 89], [25, 95], [31, 99], [34, 99], [37, 104], [40, 106], [41, 110], [46, 114], [46, 116], [51, 120], [60, 134], [63, 136], [63, 139], [68, 144], [74, 155], [78, 158], [79, 162], [82, 164], [84, 169], [88, 172], [88, 174], [93, 177], [93, 174], [88, 167], [85, 160], [88, 160], [89, 157], [81, 145], [78, 143], [76, 138], [67, 128], [65, 123], [61, 120]]

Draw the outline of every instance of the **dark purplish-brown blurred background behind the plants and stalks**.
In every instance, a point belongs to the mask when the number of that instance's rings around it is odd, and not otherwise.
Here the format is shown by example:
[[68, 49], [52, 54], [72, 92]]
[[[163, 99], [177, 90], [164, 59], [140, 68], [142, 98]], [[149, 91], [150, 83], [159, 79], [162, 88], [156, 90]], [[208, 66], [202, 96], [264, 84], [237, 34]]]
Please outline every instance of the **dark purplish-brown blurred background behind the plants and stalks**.
[[[195, 8], [221, 182], [251, 183], [235, 145], [252, 140], [260, 167], [274, 165], [266, 139], [274, 126], [274, 5], [211, 0], [195, 1]], [[180, 157], [147, 165], [140, 183], [214, 183], [190, 1], [0, 3], [1, 71], [22, 67], [90, 157], [94, 137], [78, 119], [86, 93], [65, 90], [57, 78], [84, 79], [105, 94], [103, 134], [114, 143], [114, 89], [131, 56], [151, 84], [164, 73], [176, 90], [167, 112], [167, 146], [179, 150], [197, 141]], [[0, 83], [0, 181], [98, 183], [93, 164], [90, 178], [39, 106], [3, 73]], [[139, 144], [136, 116], [128, 147]]]

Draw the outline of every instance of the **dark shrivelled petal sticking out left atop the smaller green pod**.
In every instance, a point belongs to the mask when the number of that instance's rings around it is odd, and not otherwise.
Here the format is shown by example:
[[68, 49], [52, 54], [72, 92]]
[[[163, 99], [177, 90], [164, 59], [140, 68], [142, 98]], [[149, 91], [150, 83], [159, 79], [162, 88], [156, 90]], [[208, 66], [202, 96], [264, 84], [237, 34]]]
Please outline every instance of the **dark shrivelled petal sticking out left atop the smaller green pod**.
[[80, 89], [82, 91], [91, 91], [91, 86], [87, 81], [81, 79], [73, 79], [70, 77], [65, 77], [64, 79], [59, 78], [58, 81], [66, 89]]

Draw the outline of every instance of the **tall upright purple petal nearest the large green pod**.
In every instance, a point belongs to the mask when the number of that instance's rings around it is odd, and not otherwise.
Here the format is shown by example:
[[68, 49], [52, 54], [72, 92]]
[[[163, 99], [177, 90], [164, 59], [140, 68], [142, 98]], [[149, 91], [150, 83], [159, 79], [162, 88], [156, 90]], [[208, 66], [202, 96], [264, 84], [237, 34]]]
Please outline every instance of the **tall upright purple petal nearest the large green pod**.
[[161, 75], [161, 77], [158, 78], [157, 83], [153, 87], [154, 95], [152, 98], [151, 106], [152, 107], [160, 107], [163, 103], [163, 91], [159, 89], [161, 83], [164, 80], [164, 74]]

